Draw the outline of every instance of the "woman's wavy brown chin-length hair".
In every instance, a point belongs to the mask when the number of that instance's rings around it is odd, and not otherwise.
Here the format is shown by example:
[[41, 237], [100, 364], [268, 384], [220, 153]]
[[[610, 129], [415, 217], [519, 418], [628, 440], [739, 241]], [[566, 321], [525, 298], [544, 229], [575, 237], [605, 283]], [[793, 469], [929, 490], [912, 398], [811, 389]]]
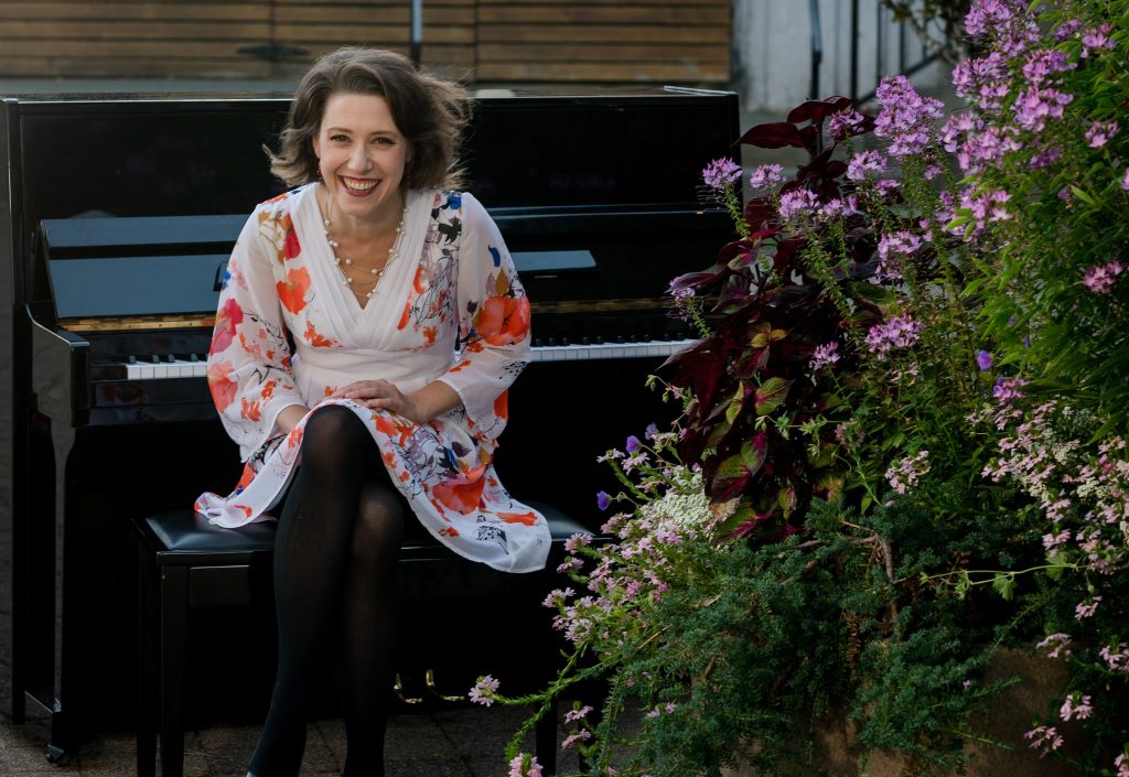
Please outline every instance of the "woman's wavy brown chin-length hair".
[[458, 146], [471, 101], [457, 84], [422, 72], [406, 56], [380, 49], [345, 46], [317, 60], [290, 103], [279, 150], [265, 148], [271, 172], [290, 186], [317, 180], [314, 138], [333, 95], [376, 95], [411, 148], [404, 183], [413, 189], [457, 189]]

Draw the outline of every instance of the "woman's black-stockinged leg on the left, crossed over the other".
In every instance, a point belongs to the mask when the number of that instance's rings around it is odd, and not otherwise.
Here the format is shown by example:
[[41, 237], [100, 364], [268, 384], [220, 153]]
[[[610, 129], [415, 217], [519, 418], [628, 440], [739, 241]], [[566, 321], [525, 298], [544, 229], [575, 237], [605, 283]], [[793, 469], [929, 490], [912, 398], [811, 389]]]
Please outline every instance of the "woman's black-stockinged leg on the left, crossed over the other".
[[322, 408], [306, 421], [274, 545], [278, 675], [251, 759], [256, 777], [294, 777], [301, 766], [316, 662], [342, 611], [358, 506], [378, 466], [371, 435], [349, 409]]

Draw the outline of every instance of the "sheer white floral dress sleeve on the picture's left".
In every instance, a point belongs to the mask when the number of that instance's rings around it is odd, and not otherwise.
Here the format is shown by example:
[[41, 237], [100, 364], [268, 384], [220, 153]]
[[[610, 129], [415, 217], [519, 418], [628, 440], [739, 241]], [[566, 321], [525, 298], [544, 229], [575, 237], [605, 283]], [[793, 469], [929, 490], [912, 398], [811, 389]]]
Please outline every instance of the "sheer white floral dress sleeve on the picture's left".
[[208, 387], [243, 461], [278, 434], [274, 421], [283, 408], [305, 404], [290, 368], [273, 267], [281, 273], [282, 257], [260, 232], [268, 220], [278, 218], [260, 206], [239, 234], [208, 353]]

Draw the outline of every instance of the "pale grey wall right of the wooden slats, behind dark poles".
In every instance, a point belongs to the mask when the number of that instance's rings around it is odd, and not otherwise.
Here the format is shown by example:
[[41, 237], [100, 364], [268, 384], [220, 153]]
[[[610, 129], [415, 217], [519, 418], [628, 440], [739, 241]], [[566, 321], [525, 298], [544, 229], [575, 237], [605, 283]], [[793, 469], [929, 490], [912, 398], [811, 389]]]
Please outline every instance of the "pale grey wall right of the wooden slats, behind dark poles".
[[[806, 98], [850, 96], [851, 3], [849, 0], [819, 0], [817, 5], [823, 36], [821, 94], [809, 95], [812, 14], [808, 0], [734, 0], [734, 86], [745, 111], [784, 113]], [[893, 24], [890, 12], [881, 8], [878, 0], [859, 0], [860, 94], [874, 89], [882, 73], [898, 72], [901, 46], [900, 25]], [[909, 27], [905, 28], [904, 52], [908, 64], [922, 56], [922, 46]], [[883, 67], [879, 69], [879, 66]], [[934, 63], [912, 80], [919, 88], [944, 87], [948, 84], [948, 69]]]

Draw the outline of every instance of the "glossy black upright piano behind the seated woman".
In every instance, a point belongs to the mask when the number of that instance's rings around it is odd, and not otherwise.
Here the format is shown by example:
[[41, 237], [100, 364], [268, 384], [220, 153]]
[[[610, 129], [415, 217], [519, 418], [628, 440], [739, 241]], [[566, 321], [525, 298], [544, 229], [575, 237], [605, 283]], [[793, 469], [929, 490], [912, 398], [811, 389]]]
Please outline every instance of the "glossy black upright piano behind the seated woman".
[[[281, 191], [262, 146], [287, 107], [41, 97], [0, 113], [12, 714], [46, 710], [55, 752], [132, 714], [130, 518], [238, 477], [203, 359], [226, 255], [255, 203]], [[469, 189], [533, 302], [535, 363], [510, 393], [497, 457], [516, 496], [598, 529], [595, 494], [614, 481], [596, 456], [671, 416], [644, 382], [692, 334], [664, 293], [729, 238], [727, 217], [698, 201], [699, 173], [738, 134], [730, 93], [478, 97]]]

